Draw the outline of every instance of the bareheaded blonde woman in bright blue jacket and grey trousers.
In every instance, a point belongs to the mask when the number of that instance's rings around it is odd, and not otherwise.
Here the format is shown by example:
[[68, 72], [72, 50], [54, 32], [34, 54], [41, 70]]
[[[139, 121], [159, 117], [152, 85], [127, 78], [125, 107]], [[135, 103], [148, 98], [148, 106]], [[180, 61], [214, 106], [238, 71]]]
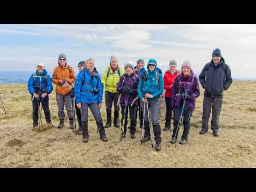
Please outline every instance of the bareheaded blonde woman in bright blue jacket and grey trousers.
[[99, 73], [94, 69], [94, 60], [88, 59], [86, 69], [79, 73], [75, 83], [76, 106], [81, 110], [83, 142], [88, 142], [88, 107], [97, 123], [102, 141], [108, 141], [103, 126], [100, 108], [102, 107], [103, 87]]

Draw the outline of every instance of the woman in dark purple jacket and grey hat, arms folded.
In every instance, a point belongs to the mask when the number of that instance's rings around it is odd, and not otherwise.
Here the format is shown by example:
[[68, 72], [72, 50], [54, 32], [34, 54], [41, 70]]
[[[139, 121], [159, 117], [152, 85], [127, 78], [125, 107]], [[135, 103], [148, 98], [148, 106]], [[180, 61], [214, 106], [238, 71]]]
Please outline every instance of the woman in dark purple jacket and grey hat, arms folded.
[[[134, 68], [132, 65], [132, 61], [126, 61], [124, 64], [125, 74], [122, 75], [119, 79], [119, 83], [117, 84], [118, 94], [121, 94], [120, 105], [122, 111], [122, 121], [121, 125], [123, 125], [124, 121], [124, 136], [126, 134], [126, 126], [127, 126], [127, 118], [128, 118], [128, 109], [130, 112], [130, 133], [131, 138], [135, 138], [136, 131], [136, 113], [138, 108], [138, 91], [137, 87], [140, 81], [140, 77], [134, 73]], [[133, 102], [134, 101], [134, 102]], [[132, 105], [133, 102], [133, 105]], [[126, 111], [125, 110], [126, 104]], [[132, 106], [131, 106], [132, 105]]]

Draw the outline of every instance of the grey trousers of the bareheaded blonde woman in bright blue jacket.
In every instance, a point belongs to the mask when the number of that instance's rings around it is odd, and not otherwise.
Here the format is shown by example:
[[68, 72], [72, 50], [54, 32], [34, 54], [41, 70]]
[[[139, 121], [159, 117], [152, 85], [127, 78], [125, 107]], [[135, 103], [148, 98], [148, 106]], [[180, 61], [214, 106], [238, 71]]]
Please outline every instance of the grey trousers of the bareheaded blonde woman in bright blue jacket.
[[81, 103], [81, 105], [82, 105], [82, 108], [80, 109], [80, 111], [81, 111], [82, 122], [88, 121], [88, 107], [90, 107], [90, 110], [92, 111], [92, 115], [93, 115], [94, 119], [96, 120], [96, 122], [102, 121], [98, 103], [91, 103], [91, 104]]

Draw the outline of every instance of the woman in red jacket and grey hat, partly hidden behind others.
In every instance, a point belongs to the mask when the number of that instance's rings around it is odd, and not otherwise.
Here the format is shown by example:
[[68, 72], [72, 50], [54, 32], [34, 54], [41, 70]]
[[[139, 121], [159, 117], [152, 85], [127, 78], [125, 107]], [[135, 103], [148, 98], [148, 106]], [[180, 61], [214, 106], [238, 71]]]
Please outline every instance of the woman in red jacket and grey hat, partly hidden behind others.
[[178, 76], [179, 71], [176, 70], [177, 62], [175, 60], [169, 61], [169, 70], [165, 71], [164, 74], [164, 89], [165, 89], [165, 103], [166, 103], [166, 114], [165, 114], [165, 127], [164, 131], [170, 129], [172, 108], [171, 108], [171, 89], [175, 78]]

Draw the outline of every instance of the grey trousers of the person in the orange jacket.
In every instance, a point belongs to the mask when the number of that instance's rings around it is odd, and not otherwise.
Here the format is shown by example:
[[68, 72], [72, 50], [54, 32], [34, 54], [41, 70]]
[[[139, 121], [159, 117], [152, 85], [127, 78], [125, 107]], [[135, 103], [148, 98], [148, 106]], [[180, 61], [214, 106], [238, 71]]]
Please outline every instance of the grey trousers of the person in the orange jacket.
[[59, 119], [63, 120], [65, 118], [64, 105], [66, 106], [68, 118], [73, 119], [72, 98], [70, 98], [69, 94], [61, 95], [61, 94], [56, 93], [56, 100], [57, 100], [57, 105], [58, 105]]

